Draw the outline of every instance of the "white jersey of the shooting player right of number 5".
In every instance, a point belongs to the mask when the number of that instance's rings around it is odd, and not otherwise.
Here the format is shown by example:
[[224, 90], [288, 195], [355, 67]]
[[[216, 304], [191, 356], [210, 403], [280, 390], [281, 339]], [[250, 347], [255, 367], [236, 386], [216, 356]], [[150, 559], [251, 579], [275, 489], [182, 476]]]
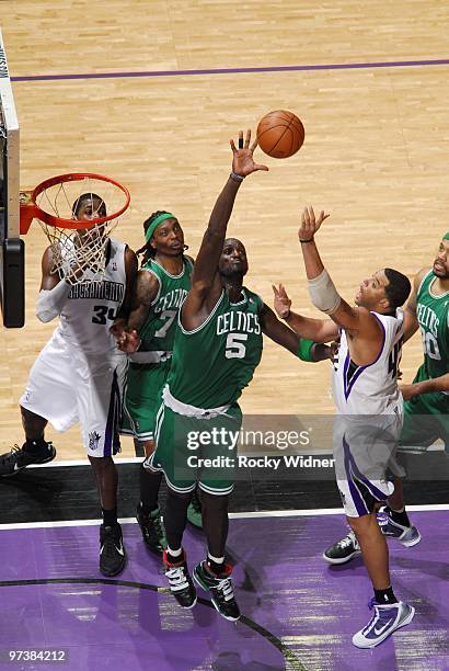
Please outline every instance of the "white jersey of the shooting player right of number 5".
[[357, 366], [349, 356], [346, 332], [334, 361], [333, 394], [341, 414], [402, 416], [402, 395], [398, 387], [398, 366], [403, 340], [403, 311], [394, 317], [371, 312], [383, 331], [382, 346], [376, 361]]

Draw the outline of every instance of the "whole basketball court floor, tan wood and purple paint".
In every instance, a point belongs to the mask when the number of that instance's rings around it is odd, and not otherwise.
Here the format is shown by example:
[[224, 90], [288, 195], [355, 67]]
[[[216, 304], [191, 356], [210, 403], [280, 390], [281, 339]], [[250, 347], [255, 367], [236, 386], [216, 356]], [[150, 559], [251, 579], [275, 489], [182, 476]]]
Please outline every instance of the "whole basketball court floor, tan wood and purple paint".
[[[283, 282], [298, 311], [318, 315], [297, 242], [310, 203], [331, 212], [320, 250], [346, 298], [378, 268], [412, 277], [431, 265], [449, 229], [444, 3], [1, 7], [1, 453], [22, 444], [19, 398], [56, 323], [35, 316], [48, 242], [36, 220], [20, 235], [19, 204], [20, 192], [53, 175], [89, 172], [124, 185], [130, 206], [114, 237], [133, 249], [151, 212], [173, 212], [195, 257], [229, 174], [229, 138], [254, 132], [272, 110], [291, 110], [306, 128], [303, 147], [286, 160], [256, 155], [269, 172], [251, 175], [232, 215], [230, 235], [247, 249], [247, 285], [273, 305], [272, 283]], [[404, 382], [422, 356], [415, 336], [403, 351]], [[329, 362], [293, 361], [266, 342], [242, 409], [255, 423], [320, 423], [334, 412], [330, 379]], [[128, 564], [119, 579], [101, 576], [96, 491], [79, 430], [47, 435], [56, 462], [0, 481], [0, 669], [449, 668], [449, 463], [440, 444], [405, 457], [421, 544], [390, 543], [394, 585], [415, 619], [358, 650], [350, 637], [368, 621], [371, 588], [359, 557], [332, 568], [322, 560], [345, 533], [330, 469], [254, 469], [238, 482], [229, 551], [243, 617], [232, 625], [206, 594], [186, 612], [168, 594], [134, 520], [138, 459], [127, 439], [117, 464]], [[331, 458], [331, 445], [312, 442], [301, 454]], [[188, 530], [186, 547], [193, 566], [200, 532]], [[8, 657], [22, 649], [61, 655]]]

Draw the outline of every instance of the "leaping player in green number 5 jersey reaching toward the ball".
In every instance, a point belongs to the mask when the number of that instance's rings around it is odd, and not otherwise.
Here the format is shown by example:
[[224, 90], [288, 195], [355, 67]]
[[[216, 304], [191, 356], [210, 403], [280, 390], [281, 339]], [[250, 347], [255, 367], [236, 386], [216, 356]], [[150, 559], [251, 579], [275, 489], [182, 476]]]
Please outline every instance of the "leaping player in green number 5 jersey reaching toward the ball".
[[[245, 249], [234, 238], [226, 240], [244, 178], [267, 170], [254, 162], [256, 143], [250, 147], [250, 130], [244, 144], [240, 133], [239, 149], [231, 140], [232, 172], [210, 215], [192, 288], [180, 311], [172, 366], [156, 422], [157, 450], [147, 460], [150, 468], [164, 471], [169, 486], [164, 560], [172, 593], [183, 607], [196, 603], [182, 538], [187, 505], [198, 480], [208, 555], [195, 567], [194, 578], [210, 592], [217, 611], [230, 621], [240, 617], [231, 568], [225, 564], [228, 498], [237, 462], [231, 436], [240, 430], [238, 399], [260, 363], [262, 334], [307, 361], [329, 356], [325, 345], [301, 341], [256, 294], [243, 286], [247, 272]], [[203, 446], [193, 454], [191, 439], [195, 436], [202, 436]], [[228, 459], [223, 468], [221, 457]], [[212, 463], [217, 458], [218, 466]]]

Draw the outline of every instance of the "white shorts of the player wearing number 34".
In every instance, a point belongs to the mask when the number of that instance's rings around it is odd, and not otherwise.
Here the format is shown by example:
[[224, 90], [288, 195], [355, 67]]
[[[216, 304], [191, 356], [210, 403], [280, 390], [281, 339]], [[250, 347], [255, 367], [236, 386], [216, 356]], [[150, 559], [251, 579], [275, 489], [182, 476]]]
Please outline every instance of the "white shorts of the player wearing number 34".
[[56, 431], [80, 422], [93, 457], [119, 451], [118, 422], [127, 356], [118, 351], [84, 354], [56, 330], [30, 373], [20, 405], [48, 420]]

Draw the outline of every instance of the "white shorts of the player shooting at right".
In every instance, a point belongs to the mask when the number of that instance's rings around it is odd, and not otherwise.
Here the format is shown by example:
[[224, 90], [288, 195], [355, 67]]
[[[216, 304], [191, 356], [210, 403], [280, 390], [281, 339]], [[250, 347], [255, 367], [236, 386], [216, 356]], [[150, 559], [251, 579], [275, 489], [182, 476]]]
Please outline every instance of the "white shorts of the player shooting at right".
[[402, 416], [336, 416], [334, 421], [335, 475], [348, 518], [375, 512], [394, 486], [388, 474], [404, 477], [395, 453]]

